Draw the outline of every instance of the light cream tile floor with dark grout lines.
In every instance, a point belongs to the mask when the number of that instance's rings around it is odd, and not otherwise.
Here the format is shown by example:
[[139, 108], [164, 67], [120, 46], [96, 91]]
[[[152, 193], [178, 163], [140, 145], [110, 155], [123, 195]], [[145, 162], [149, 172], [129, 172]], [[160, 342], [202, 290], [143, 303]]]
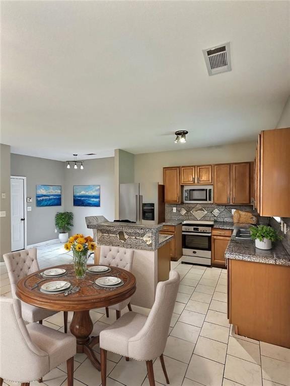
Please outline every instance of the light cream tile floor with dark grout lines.
[[[38, 247], [41, 268], [71, 263], [62, 244]], [[226, 270], [172, 262], [181, 283], [165, 362], [171, 386], [290, 386], [290, 349], [237, 336], [227, 320]], [[6, 267], [0, 263], [1, 295], [11, 296]], [[135, 308], [136, 310], [136, 308]], [[138, 309], [144, 314], [148, 310]], [[126, 310], [124, 312], [127, 312]], [[95, 334], [115, 320], [104, 309], [91, 311]], [[70, 321], [72, 314], [69, 313]], [[44, 325], [63, 331], [62, 315], [56, 314]], [[99, 346], [95, 346], [99, 355]], [[154, 363], [156, 386], [165, 385], [159, 359]], [[16, 383], [11, 383], [12, 385]], [[39, 383], [33, 382], [33, 386]], [[100, 373], [84, 354], [75, 356], [75, 386], [99, 386]], [[43, 385], [66, 385], [65, 364], [43, 377]], [[108, 386], [149, 386], [146, 365], [117, 354], [108, 354]]]

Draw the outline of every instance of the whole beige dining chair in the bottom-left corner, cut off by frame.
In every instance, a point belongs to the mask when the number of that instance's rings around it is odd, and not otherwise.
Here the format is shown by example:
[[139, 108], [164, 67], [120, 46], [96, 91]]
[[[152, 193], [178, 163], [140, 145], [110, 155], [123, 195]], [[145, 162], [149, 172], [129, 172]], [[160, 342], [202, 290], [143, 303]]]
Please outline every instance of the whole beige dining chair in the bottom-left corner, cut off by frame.
[[76, 337], [38, 323], [26, 326], [18, 299], [0, 298], [0, 347], [0, 385], [8, 380], [29, 386], [66, 361], [67, 385], [73, 386]]

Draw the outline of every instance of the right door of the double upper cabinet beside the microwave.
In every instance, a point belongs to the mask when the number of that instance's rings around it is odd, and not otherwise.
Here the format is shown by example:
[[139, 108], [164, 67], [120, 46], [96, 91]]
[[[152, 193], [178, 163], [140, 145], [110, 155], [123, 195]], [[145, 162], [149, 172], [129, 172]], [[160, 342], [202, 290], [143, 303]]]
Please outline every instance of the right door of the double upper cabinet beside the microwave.
[[232, 204], [251, 204], [250, 162], [233, 163], [231, 169]]

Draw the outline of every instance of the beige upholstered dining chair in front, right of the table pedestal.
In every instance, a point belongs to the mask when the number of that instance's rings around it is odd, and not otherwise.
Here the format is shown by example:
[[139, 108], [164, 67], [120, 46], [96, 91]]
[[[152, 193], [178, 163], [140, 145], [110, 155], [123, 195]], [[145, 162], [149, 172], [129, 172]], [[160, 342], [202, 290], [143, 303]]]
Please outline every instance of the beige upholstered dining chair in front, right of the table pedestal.
[[160, 281], [157, 284], [155, 302], [148, 317], [135, 312], [127, 312], [101, 331], [102, 386], [106, 386], [107, 351], [146, 361], [150, 386], [155, 386], [153, 359], [159, 356], [166, 383], [169, 383], [163, 351], [166, 346], [179, 281], [179, 273], [170, 271], [169, 280]]

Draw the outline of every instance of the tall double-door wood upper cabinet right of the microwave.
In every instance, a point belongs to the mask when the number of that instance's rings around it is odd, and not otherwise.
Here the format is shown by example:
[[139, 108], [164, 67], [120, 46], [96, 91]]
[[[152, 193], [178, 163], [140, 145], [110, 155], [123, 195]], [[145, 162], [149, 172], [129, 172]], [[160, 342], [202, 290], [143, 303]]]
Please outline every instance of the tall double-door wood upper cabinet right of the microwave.
[[214, 204], [251, 204], [253, 162], [213, 165]]

